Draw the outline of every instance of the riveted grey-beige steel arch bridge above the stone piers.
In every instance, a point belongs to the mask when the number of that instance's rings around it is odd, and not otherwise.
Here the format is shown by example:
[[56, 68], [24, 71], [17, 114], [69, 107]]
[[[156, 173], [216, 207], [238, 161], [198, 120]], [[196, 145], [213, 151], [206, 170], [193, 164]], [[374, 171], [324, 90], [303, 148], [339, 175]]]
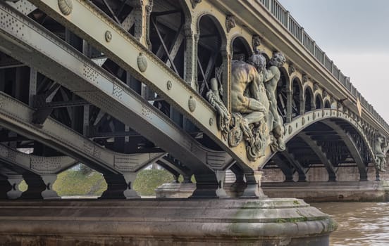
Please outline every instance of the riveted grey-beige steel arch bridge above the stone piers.
[[[228, 170], [243, 198], [261, 197], [261, 170], [279, 181], [385, 171], [388, 124], [276, 0], [1, 1], [0, 51], [0, 198], [58, 198], [56, 175], [79, 162], [104, 175], [102, 198], [138, 198], [132, 182], [153, 162], [195, 175], [193, 198], [226, 197]], [[234, 108], [233, 60], [275, 52], [285, 148], [252, 157], [220, 108]]]

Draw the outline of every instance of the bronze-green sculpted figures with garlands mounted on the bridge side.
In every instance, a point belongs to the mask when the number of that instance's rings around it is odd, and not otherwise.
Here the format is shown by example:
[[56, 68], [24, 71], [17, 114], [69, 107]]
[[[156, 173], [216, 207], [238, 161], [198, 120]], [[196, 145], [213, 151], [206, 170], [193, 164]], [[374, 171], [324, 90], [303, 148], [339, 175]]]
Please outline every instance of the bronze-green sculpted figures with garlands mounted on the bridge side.
[[246, 142], [247, 157], [254, 161], [273, 151], [285, 150], [283, 119], [277, 111], [276, 88], [285, 63], [276, 52], [266, 68], [266, 58], [254, 53], [247, 62], [233, 60], [231, 65], [231, 111], [221, 100], [218, 82], [211, 79], [206, 98], [218, 112], [218, 127], [230, 147]]

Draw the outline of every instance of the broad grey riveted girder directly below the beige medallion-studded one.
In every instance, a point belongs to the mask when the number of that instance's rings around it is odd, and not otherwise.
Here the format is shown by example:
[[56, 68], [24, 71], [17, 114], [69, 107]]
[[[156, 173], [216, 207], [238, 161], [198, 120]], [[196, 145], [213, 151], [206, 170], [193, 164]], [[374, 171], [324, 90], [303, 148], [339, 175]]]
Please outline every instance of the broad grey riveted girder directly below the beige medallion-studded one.
[[[32, 20], [6, 4], [0, 4], [0, 16], [4, 16], [4, 22], [13, 21], [13, 26], [18, 24], [18, 30], [0, 24], [0, 48], [3, 47], [4, 52], [109, 112], [181, 160], [194, 173], [223, 169], [233, 162], [226, 153], [203, 148], [135, 91]], [[26, 122], [31, 120], [26, 119]], [[46, 125], [47, 122], [43, 129]], [[87, 142], [85, 138], [78, 141]]]

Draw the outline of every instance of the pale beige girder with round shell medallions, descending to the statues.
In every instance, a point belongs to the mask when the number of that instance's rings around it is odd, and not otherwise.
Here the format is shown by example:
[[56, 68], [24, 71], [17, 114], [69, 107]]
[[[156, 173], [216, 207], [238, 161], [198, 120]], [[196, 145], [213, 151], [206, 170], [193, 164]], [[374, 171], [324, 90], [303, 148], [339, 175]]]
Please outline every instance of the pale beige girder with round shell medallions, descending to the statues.
[[[242, 142], [237, 147], [230, 148], [226, 139], [223, 139], [221, 136], [221, 131], [218, 130], [216, 124], [209, 124], [211, 119], [213, 122], [216, 122], [216, 112], [197, 91], [192, 89], [189, 84], [185, 83], [163, 61], [159, 60], [151, 51], [142, 46], [139, 41], [126, 32], [121, 25], [118, 25], [118, 23], [109, 18], [109, 16], [91, 2], [72, 1], [73, 11], [68, 16], [61, 13], [57, 1], [30, 0], [30, 2], [50, 15], [51, 18], [54, 18], [69, 30], [75, 32], [75, 34], [78, 34], [82, 39], [87, 40], [107, 57], [123, 67], [123, 69], [128, 70], [132, 76], [150, 86], [156, 93], [218, 143], [223, 150], [226, 150], [242, 168], [252, 171], [252, 169], [259, 167], [261, 160], [251, 162], [247, 159], [245, 143]], [[106, 39], [106, 34], [112, 37], [109, 41]], [[48, 50], [48, 48], [46, 49]], [[52, 52], [56, 53], [56, 51]], [[146, 58], [148, 64], [147, 70], [144, 72], [141, 72], [137, 63], [140, 54]], [[173, 85], [171, 88], [170, 86], [166, 86], [169, 81]], [[109, 91], [109, 93], [112, 93], [112, 91]], [[121, 89], [116, 90], [114, 88], [113, 93], [116, 96], [116, 101], [122, 104], [126, 103], [125, 95], [123, 95], [124, 93]], [[118, 94], [121, 96], [118, 96]], [[194, 111], [191, 111], [188, 105], [190, 98], [196, 102]], [[175, 157], [180, 159], [178, 156]]]

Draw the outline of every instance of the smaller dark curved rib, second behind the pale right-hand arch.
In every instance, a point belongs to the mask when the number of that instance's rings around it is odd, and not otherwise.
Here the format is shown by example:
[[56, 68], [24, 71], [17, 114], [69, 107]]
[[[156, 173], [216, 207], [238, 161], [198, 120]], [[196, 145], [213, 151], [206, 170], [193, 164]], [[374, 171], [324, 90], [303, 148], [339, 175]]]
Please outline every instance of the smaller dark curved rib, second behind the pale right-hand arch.
[[326, 170], [328, 172], [328, 181], [336, 181], [336, 170], [333, 166], [333, 163], [331, 160], [327, 157], [327, 153], [321, 148], [321, 146], [317, 143], [317, 141], [314, 141], [309, 135], [304, 134], [303, 131], [301, 131], [298, 136], [302, 138], [302, 140], [309, 145], [309, 148], [314, 151], [314, 153], [319, 157], [321, 160], [321, 163], [324, 164], [324, 167], [326, 167]]

